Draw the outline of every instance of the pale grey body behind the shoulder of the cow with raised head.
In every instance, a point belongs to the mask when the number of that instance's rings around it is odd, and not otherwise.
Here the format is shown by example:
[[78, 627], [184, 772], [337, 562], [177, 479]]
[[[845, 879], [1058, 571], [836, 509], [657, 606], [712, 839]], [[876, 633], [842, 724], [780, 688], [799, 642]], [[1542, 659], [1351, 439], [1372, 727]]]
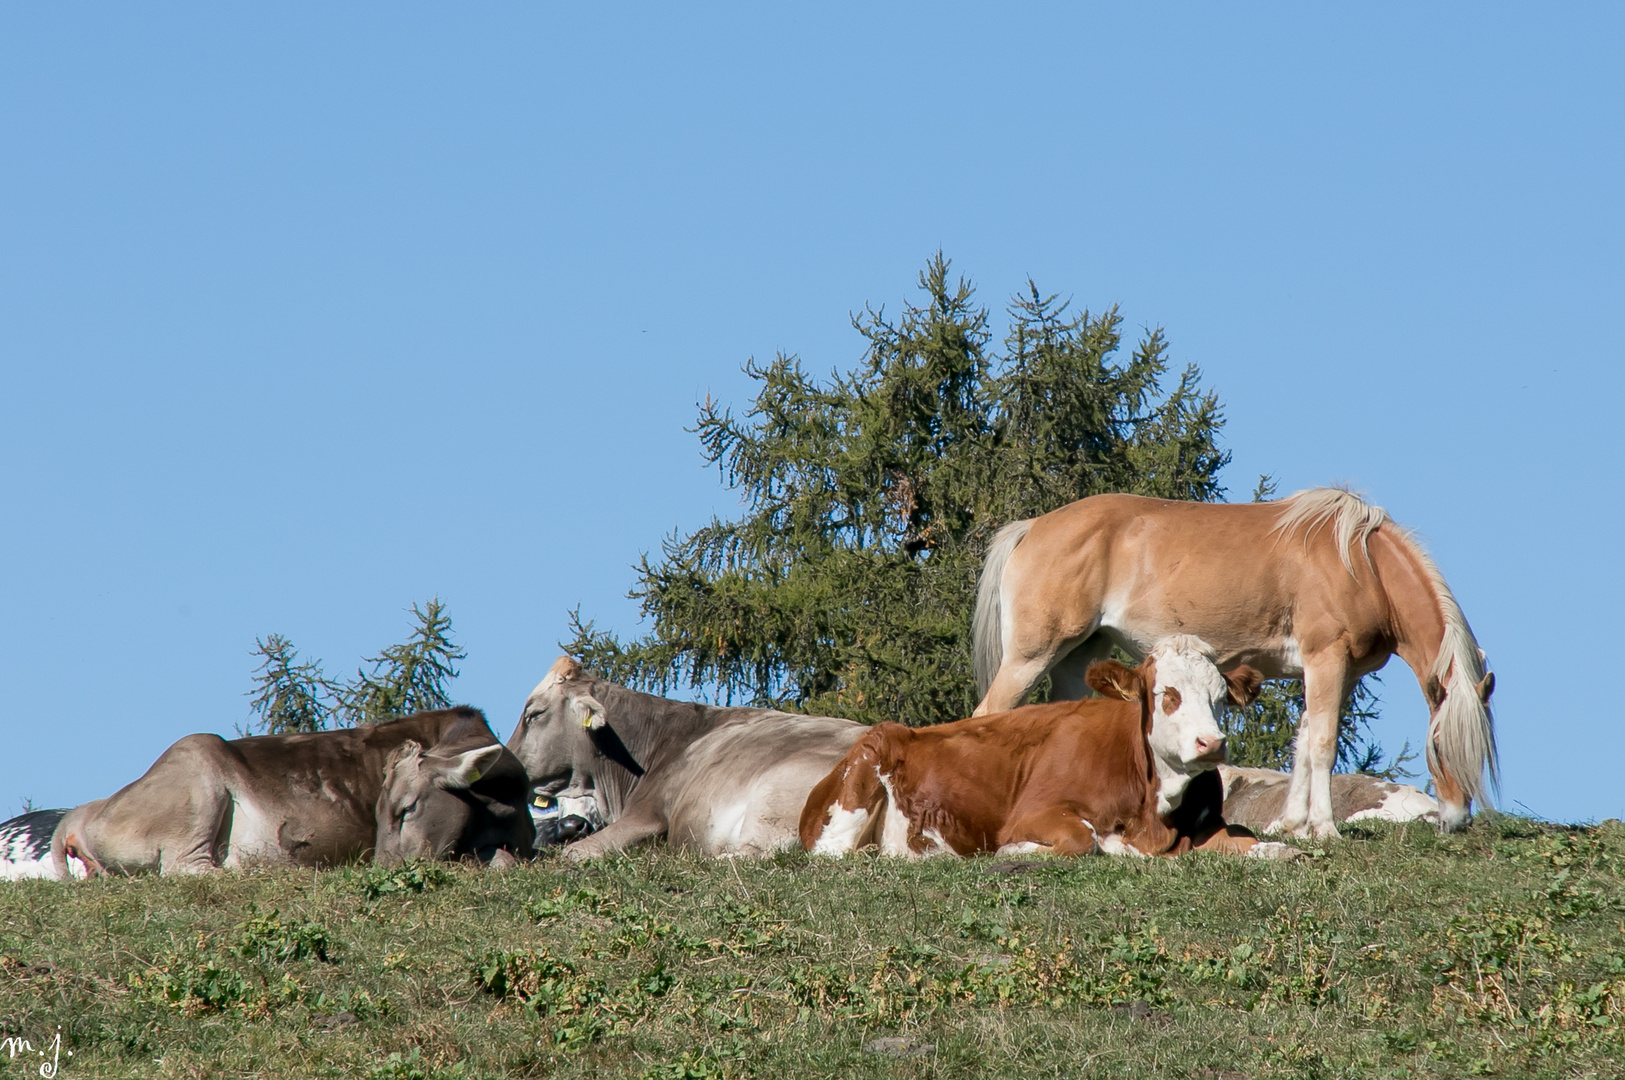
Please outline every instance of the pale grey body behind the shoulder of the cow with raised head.
[[777, 711], [720, 724], [660, 778], [668, 838], [707, 854], [795, 846], [808, 793], [864, 731], [850, 719]]

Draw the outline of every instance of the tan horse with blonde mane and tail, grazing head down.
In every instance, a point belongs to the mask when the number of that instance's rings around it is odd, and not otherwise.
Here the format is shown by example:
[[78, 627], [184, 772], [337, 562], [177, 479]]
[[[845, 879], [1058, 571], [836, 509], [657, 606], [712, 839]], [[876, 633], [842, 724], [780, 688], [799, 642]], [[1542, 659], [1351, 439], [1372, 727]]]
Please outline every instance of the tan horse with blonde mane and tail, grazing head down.
[[1113, 645], [1142, 658], [1170, 633], [1209, 642], [1220, 669], [1303, 677], [1297, 765], [1272, 832], [1337, 835], [1337, 715], [1394, 653], [1432, 715], [1441, 828], [1467, 822], [1485, 768], [1497, 781], [1495, 676], [1456, 598], [1406, 529], [1331, 487], [1254, 503], [1095, 495], [1006, 525], [977, 591], [975, 715], [1020, 705], [1045, 672], [1056, 697], [1084, 697], [1084, 672]]

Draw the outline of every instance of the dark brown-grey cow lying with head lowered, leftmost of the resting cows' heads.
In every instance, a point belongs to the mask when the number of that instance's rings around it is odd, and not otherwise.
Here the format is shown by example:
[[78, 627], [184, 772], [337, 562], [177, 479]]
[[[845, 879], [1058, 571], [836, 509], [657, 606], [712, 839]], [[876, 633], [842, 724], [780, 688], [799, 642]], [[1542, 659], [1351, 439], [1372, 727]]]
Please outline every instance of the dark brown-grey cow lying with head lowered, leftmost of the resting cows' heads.
[[525, 770], [479, 710], [226, 741], [180, 739], [146, 775], [70, 810], [52, 838], [91, 874], [531, 854]]

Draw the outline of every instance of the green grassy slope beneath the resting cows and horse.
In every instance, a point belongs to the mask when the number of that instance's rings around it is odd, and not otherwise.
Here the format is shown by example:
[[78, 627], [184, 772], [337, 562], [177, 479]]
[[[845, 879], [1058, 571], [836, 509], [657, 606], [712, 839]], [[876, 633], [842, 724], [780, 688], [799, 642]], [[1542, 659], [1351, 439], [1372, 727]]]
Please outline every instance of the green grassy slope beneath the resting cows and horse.
[[65, 1078], [1625, 1072], [1625, 828], [1347, 833], [1294, 864], [656, 848], [20, 882], [0, 1036], [60, 1025]]

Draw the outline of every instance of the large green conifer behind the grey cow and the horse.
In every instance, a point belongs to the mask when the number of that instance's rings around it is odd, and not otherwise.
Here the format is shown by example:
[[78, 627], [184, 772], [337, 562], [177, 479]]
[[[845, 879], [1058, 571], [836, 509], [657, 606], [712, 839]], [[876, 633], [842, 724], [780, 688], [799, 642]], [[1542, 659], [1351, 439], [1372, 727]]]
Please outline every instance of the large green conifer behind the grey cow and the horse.
[[707, 461], [746, 505], [644, 555], [632, 642], [572, 614], [567, 651], [618, 682], [682, 687], [866, 723], [967, 716], [977, 703], [970, 614], [982, 555], [1006, 521], [1126, 490], [1216, 499], [1228, 455], [1201, 374], [1168, 390], [1147, 331], [1118, 356], [1121, 315], [1069, 313], [1032, 283], [990, 313], [941, 255], [897, 318], [866, 309], [852, 372], [793, 356], [751, 361], [743, 417], [700, 406]]

